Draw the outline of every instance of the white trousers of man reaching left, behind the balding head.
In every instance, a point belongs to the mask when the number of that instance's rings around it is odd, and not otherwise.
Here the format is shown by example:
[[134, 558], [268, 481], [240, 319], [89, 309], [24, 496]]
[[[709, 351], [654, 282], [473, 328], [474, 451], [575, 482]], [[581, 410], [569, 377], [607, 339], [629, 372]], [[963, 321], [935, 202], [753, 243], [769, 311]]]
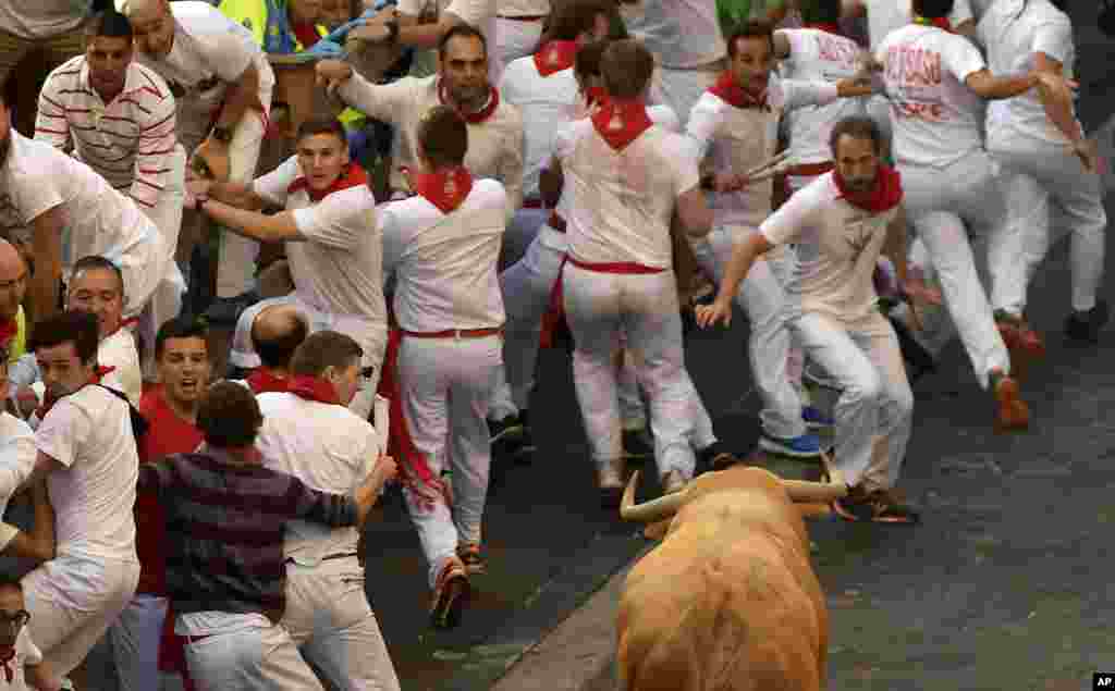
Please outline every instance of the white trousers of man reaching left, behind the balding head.
[[252, 346], [252, 322], [255, 321], [255, 317], [260, 312], [273, 304], [297, 306], [306, 317], [306, 321], [310, 325], [310, 333], [327, 330], [337, 331], [350, 337], [360, 346], [363, 350], [360, 366], [374, 369], [370, 377], [360, 378], [360, 388], [356, 392], [356, 398], [349, 403], [349, 409], [361, 418], [368, 419], [376, 400], [376, 388], [379, 386], [379, 374], [384, 366], [384, 352], [387, 350], [387, 324], [376, 323], [353, 314], [333, 314], [319, 310], [301, 300], [297, 292], [271, 298], [256, 302], [241, 312], [240, 319], [236, 321], [236, 332], [232, 337], [229, 362], [246, 369], [263, 364]]

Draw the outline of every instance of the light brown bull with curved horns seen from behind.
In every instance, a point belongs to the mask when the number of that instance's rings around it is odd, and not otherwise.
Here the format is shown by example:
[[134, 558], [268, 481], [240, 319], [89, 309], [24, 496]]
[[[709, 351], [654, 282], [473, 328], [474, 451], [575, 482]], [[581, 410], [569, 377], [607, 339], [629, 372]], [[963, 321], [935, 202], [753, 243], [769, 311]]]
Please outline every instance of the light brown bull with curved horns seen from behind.
[[661, 545], [627, 577], [617, 621], [624, 691], [817, 691], [828, 610], [793, 502], [831, 502], [843, 485], [735, 466], [633, 505], [628, 520], [672, 516]]

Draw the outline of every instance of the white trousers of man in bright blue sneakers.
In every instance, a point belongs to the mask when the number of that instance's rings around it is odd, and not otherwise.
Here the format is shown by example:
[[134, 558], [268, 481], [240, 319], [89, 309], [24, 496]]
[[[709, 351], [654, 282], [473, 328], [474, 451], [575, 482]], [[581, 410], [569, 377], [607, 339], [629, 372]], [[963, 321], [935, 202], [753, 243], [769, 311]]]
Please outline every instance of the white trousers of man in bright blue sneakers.
[[[694, 241], [694, 254], [701, 270], [716, 281], [723, 281], [733, 249], [749, 232], [754, 231], [743, 226], [717, 226], [704, 239]], [[747, 352], [755, 388], [763, 398], [759, 413], [763, 428], [780, 439], [793, 439], [807, 431], [802, 420], [802, 399], [787, 373], [791, 333], [786, 329], [783, 286], [793, 272], [794, 251], [785, 246], [773, 250], [752, 264], [736, 293], [736, 302], [752, 324]]]

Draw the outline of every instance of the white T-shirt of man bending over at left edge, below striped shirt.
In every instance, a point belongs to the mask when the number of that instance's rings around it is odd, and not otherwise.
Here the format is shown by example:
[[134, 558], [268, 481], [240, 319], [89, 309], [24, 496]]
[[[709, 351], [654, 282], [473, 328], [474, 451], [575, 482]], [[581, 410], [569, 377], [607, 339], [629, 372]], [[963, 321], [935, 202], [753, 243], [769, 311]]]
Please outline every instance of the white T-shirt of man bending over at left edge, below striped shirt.
[[157, 228], [132, 199], [93, 168], [14, 129], [9, 137], [11, 149], [0, 169], [0, 225], [30, 227], [40, 215], [60, 206], [67, 220], [64, 271], [68, 273], [74, 262], [90, 254], [119, 265], [122, 257], [143, 245], [162, 244]]

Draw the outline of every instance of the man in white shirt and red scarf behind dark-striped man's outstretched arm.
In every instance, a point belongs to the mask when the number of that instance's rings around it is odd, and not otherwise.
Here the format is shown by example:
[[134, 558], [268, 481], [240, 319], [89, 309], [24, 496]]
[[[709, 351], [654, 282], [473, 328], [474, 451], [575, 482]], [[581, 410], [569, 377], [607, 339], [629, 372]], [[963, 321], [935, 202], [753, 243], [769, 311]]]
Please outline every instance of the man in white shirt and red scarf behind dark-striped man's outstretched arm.
[[[381, 463], [387, 430], [346, 408], [357, 391], [361, 354], [355, 340], [336, 331], [318, 331], [298, 347], [289, 391], [256, 398], [263, 413], [256, 447], [265, 467], [341, 494]], [[333, 688], [398, 691], [376, 615], [363, 588], [352, 587], [363, 583], [359, 539], [351, 527], [288, 525], [282, 625]]]

